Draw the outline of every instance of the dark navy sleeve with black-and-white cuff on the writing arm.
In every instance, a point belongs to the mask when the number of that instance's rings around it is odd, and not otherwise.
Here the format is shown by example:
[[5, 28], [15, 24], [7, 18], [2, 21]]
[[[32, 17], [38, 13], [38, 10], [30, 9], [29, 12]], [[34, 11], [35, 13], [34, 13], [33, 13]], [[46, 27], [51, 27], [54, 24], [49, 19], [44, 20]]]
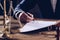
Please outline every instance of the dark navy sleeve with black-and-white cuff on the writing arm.
[[22, 0], [14, 10], [14, 17], [17, 19], [21, 12], [28, 12], [36, 5], [36, 0]]

